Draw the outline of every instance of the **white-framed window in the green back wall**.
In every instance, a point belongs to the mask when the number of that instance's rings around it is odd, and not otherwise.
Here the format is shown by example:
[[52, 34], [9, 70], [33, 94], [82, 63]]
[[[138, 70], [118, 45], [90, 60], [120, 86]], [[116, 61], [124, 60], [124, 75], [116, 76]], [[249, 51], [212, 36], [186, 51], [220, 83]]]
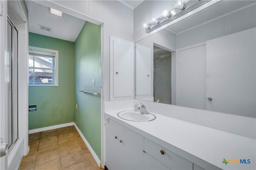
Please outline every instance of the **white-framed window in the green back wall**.
[[58, 86], [58, 51], [29, 46], [30, 86]]

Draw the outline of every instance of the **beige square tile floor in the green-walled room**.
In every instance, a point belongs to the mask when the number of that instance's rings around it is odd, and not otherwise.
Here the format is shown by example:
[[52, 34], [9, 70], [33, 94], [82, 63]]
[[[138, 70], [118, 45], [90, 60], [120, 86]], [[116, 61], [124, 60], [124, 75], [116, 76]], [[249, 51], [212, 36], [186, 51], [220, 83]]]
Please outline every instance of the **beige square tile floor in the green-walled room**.
[[74, 126], [29, 135], [19, 170], [100, 170]]

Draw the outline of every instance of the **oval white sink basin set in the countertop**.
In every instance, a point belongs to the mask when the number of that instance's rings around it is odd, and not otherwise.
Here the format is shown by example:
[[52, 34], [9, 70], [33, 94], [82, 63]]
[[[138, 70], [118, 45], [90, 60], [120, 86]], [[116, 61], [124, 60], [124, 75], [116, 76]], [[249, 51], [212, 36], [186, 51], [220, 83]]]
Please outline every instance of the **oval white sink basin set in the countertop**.
[[143, 114], [139, 111], [127, 110], [127, 111], [120, 111], [117, 113], [118, 117], [128, 121], [152, 121], [156, 119], [156, 116], [152, 113], [150, 114]]

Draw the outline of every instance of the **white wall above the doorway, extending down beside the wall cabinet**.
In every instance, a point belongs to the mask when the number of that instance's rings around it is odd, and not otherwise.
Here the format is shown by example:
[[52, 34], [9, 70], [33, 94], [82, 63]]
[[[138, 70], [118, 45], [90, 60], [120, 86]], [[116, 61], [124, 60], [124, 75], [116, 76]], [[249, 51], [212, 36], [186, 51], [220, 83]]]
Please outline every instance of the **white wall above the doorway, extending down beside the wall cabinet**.
[[104, 101], [110, 100], [110, 35], [133, 42], [133, 10], [116, 0], [56, 0], [71, 10], [103, 21]]

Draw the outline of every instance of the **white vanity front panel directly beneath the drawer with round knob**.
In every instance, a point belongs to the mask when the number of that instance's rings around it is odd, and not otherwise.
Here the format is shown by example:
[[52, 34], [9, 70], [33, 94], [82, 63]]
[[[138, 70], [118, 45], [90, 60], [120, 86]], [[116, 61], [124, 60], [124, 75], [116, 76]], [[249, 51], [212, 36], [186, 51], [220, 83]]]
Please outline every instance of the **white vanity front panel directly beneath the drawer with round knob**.
[[161, 164], [158, 160], [144, 153], [144, 170], [169, 170], [166, 166]]

